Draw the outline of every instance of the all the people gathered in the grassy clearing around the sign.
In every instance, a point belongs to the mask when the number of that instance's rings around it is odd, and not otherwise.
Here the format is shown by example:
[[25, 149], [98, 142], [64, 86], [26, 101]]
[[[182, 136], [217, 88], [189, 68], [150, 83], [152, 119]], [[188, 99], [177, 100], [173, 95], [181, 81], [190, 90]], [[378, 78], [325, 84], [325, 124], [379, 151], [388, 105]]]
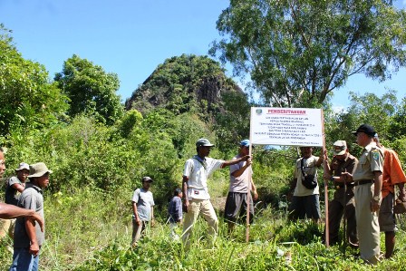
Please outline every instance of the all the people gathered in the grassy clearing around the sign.
[[[295, 163], [295, 192], [290, 205], [292, 219], [321, 218], [317, 167], [325, 163], [324, 179], [333, 182], [335, 192], [328, 213], [331, 243], [337, 243], [339, 227], [343, 216], [347, 222], [344, 236], [353, 247], [360, 248], [362, 259], [376, 264], [380, 260], [380, 230], [385, 233], [386, 257], [393, 253], [395, 243], [395, 221], [393, 216], [394, 185], [401, 191], [400, 198], [405, 200], [403, 188], [406, 177], [401, 162], [393, 150], [385, 149], [372, 126], [362, 124], [353, 134], [363, 150], [357, 160], [348, 151], [344, 140], [333, 144], [333, 160], [329, 162], [327, 152], [315, 157], [312, 147], [302, 147], [302, 157]], [[198, 216], [208, 222], [209, 244], [212, 246], [218, 235], [218, 217], [210, 202], [208, 178], [218, 169], [230, 167], [230, 184], [225, 208], [228, 232], [231, 233], [238, 218], [244, 218], [249, 205], [250, 223], [254, 215], [252, 198], [257, 198], [253, 182], [252, 160], [249, 140], [242, 140], [239, 151], [232, 160], [209, 158], [214, 147], [207, 139], [196, 142], [197, 155], [187, 160], [183, 170], [182, 190], [176, 190], [174, 206], [179, 206], [183, 198], [186, 214], [183, 221], [182, 241], [186, 249], [190, 246], [190, 235]], [[0, 151], [0, 174], [5, 171], [5, 156]], [[45, 164], [28, 166], [24, 163], [15, 169], [16, 179], [9, 184], [15, 189], [10, 200], [12, 204], [0, 203], [0, 218], [17, 218], [14, 229], [14, 262], [10, 270], [17, 266], [29, 265], [26, 270], [36, 270], [38, 254], [43, 242], [43, 197], [42, 189], [49, 183], [51, 170]], [[23, 171], [24, 170], [24, 171]], [[28, 175], [28, 170], [29, 174]], [[0, 175], [0, 177], [1, 177]], [[21, 179], [20, 179], [20, 177]], [[30, 182], [24, 187], [24, 179]], [[140, 233], [146, 222], [153, 223], [153, 198], [150, 192], [150, 177], [142, 179], [142, 188], [136, 189], [132, 198], [133, 207], [133, 246], [140, 239]], [[252, 197], [251, 197], [252, 192]], [[18, 198], [17, 195], [21, 193]], [[17, 199], [18, 198], [18, 199]], [[181, 220], [179, 215], [173, 223]], [[347, 240], [345, 240], [347, 241]], [[25, 270], [25, 269], [24, 269]]]

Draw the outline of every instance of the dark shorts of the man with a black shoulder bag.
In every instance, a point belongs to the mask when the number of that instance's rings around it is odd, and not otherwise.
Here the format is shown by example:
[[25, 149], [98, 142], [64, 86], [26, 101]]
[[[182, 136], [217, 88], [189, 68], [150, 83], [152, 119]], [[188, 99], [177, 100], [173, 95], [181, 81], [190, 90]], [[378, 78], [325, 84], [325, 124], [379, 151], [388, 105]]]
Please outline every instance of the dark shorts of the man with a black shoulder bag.
[[290, 204], [289, 212], [290, 219], [320, 219], [319, 195], [294, 196]]

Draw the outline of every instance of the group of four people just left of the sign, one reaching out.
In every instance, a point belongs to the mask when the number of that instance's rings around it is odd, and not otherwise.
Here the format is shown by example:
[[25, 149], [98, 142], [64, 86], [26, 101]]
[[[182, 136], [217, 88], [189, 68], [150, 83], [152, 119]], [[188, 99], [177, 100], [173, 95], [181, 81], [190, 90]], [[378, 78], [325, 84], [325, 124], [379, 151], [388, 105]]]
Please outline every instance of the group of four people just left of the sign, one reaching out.
[[[183, 224], [182, 240], [186, 249], [189, 249], [190, 234], [199, 215], [208, 221], [210, 247], [213, 246], [218, 235], [218, 217], [209, 200], [210, 195], [208, 193], [208, 177], [217, 169], [230, 166], [230, 185], [225, 208], [228, 232], [231, 234], [238, 218], [246, 217], [247, 205], [249, 205], [250, 210], [250, 222], [254, 216], [253, 199], [248, 196], [248, 190], [252, 190], [255, 199], [258, 195], [250, 167], [250, 141], [242, 140], [240, 142], [238, 154], [232, 160], [209, 158], [208, 154], [212, 147], [214, 145], [207, 139], [199, 139], [196, 142], [197, 154], [185, 163], [182, 189], [175, 189], [174, 197], [169, 202], [170, 237], [178, 238], [175, 227], [178, 224]], [[132, 247], [138, 246], [141, 233], [150, 222], [153, 224], [154, 221], [154, 200], [150, 192], [152, 181], [150, 177], [142, 178], [142, 188], [135, 189], [132, 197]], [[183, 198], [183, 208], [181, 198]], [[182, 209], [186, 211], [184, 218]]]

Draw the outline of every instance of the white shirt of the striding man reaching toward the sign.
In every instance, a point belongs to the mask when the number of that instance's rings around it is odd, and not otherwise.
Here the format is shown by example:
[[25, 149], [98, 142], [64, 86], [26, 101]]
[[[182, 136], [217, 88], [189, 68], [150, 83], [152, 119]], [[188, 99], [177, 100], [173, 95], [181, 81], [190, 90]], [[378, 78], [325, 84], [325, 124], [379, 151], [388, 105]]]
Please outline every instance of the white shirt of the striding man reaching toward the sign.
[[221, 168], [224, 160], [215, 160], [212, 158], [205, 158], [201, 160], [197, 155], [192, 159], [185, 162], [185, 169], [183, 176], [189, 178], [188, 180], [188, 199], [208, 199], [208, 178], [214, 171]]

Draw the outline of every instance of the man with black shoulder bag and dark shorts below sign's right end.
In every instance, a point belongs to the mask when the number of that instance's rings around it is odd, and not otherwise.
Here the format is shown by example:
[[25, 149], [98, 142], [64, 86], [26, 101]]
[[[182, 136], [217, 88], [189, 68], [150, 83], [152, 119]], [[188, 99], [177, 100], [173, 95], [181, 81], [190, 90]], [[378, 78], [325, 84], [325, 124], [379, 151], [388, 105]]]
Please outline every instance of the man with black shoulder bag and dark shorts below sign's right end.
[[[312, 218], [318, 223], [321, 217], [319, 201], [319, 185], [317, 183], [317, 168], [324, 161], [324, 156], [313, 155], [313, 147], [300, 147], [302, 157], [295, 162], [295, 192], [289, 207], [290, 219]], [[304, 186], [304, 177], [312, 176], [314, 188]]]

